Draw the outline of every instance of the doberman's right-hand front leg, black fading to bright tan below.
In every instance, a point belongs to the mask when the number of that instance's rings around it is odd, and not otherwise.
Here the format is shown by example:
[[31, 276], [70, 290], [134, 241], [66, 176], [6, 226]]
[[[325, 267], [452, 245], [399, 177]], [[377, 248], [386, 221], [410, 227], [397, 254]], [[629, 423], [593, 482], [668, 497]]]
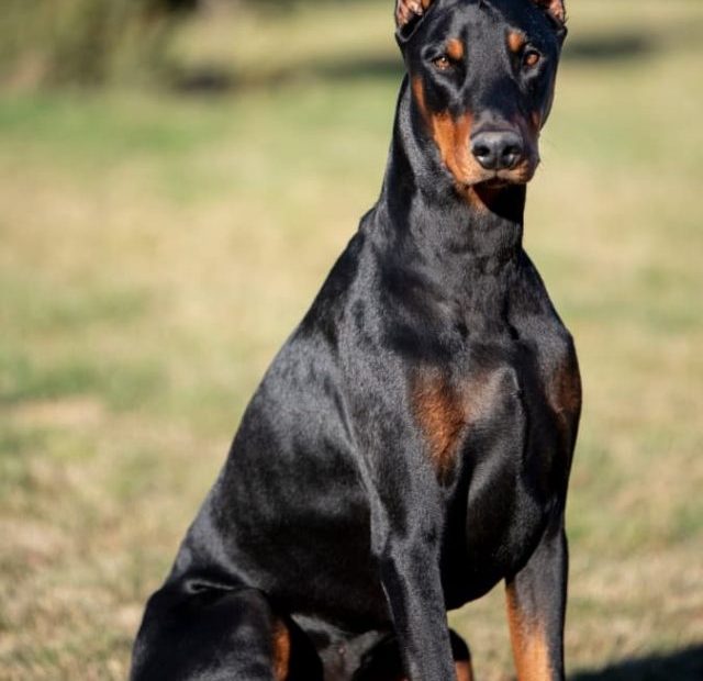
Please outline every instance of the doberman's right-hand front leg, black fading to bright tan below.
[[518, 681], [563, 681], [568, 547], [561, 514], [527, 565], [505, 581]]

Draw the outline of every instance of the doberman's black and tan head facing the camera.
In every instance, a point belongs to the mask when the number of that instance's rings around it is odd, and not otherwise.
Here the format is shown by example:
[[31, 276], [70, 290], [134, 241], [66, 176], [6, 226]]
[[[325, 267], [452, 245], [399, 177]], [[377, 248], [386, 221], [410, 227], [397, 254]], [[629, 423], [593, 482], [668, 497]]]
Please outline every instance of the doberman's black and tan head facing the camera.
[[398, 0], [413, 115], [460, 188], [524, 185], [554, 97], [562, 0]]

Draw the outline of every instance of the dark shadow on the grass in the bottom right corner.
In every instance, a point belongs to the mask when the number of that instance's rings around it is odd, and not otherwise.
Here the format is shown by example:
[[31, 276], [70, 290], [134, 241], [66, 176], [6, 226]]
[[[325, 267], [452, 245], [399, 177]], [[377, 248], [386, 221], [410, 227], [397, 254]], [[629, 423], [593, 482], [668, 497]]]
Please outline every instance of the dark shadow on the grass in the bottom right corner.
[[580, 671], [570, 681], [701, 681], [703, 645], [665, 655], [624, 660], [599, 671]]

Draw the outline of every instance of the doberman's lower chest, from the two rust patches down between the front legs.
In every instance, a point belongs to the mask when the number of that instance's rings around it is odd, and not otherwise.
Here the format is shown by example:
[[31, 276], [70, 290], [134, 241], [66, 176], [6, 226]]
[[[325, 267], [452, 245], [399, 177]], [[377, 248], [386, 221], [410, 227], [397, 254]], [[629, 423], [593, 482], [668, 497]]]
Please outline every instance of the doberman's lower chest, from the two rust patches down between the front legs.
[[534, 548], [566, 488], [580, 409], [570, 337], [555, 323], [539, 343], [469, 348], [453, 369], [420, 371], [413, 404], [438, 480], [465, 510], [449, 539], [466, 547], [457, 583], [482, 592]]

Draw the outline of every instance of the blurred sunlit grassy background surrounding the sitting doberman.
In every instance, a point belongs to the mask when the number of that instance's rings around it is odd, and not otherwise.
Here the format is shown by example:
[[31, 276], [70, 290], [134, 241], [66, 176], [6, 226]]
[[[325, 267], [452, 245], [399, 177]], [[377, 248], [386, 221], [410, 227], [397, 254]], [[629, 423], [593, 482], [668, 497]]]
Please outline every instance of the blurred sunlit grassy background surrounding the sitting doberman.
[[[580, 351], [577, 681], [703, 679], [703, 2], [571, 0], [526, 247]], [[2, 0], [0, 679], [123, 679], [376, 200], [392, 0]], [[501, 589], [453, 615], [513, 678]]]

